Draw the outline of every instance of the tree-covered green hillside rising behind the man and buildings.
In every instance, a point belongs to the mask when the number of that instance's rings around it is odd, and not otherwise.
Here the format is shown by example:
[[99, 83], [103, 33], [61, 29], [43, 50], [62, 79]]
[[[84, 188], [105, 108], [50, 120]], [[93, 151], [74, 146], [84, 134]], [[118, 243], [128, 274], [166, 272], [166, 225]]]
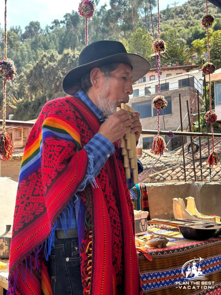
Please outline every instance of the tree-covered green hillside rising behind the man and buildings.
[[[98, 4], [98, 0], [95, 1]], [[89, 43], [96, 40], [119, 40], [128, 52], [153, 60], [153, 33], [149, 1], [110, 0], [110, 9], [99, 6], [88, 20]], [[152, 8], [156, 0], [151, 0]], [[204, 0], [190, 0], [182, 6], [160, 12], [161, 37], [166, 42], [164, 60], [186, 58], [197, 52], [199, 62], [207, 52], [206, 29], [200, 24], [205, 14]], [[221, 67], [221, 10], [208, 3], [215, 18], [210, 28], [211, 61]], [[157, 15], [153, 15], [157, 36]], [[55, 19], [42, 28], [30, 22], [22, 32], [20, 27], [8, 30], [7, 56], [17, 66], [17, 78], [7, 82], [7, 101], [15, 109], [14, 119], [34, 119], [47, 100], [65, 95], [62, 78], [77, 65], [79, 52], [85, 47], [84, 19], [78, 12], [67, 12], [62, 20]], [[0, 59], [4, 56], [3, 25], [0, 27]], [[2, 101], [2, 93], [0, 93]]]

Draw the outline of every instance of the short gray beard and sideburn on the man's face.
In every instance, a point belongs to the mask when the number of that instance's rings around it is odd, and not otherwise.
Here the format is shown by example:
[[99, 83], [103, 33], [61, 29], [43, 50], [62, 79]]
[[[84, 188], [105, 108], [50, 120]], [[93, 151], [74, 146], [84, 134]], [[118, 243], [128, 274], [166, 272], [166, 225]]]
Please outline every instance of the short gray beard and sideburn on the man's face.
[[[110, 96], [107, 95], [109, 88], [109, 81], [106, 78], [103, 89], [98, 94], [98, 109], [102, 112], [105, 117], [116, 113], [118, 101], [112, 101]], [[128, 100], [129, 96], [126, 96], [125, 103]], [[121, 100], [122, 101], [122, 100]]]

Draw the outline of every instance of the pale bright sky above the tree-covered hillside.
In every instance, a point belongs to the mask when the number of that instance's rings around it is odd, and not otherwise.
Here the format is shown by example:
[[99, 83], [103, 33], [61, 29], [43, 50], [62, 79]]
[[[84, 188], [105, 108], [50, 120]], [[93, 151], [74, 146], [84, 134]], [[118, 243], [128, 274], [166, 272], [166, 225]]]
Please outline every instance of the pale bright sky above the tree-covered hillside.
[[[176, 0], [178, 5], [182, 5], [187, 0]], [[4, 27], [4, 0], [0, 0], [0, 24]], [[67, 12], [77, 11], [80, 0], [7, 0], [7, 29], [11, 26], [24, 27], [30, 21], [39, 21], [44, 29], [46, 25], [51, 25], [54, 19], [62, 20]], [[107, 0], [100, 0], [99, 6], [109, 3]], [[159, 7], [165, 9], [167, 4], [174, 3], [174, 0], [159, 0]], [[170, 7], [173, 7], [171, 5]], [[156, 12], [156, 8], [153, 12]]]

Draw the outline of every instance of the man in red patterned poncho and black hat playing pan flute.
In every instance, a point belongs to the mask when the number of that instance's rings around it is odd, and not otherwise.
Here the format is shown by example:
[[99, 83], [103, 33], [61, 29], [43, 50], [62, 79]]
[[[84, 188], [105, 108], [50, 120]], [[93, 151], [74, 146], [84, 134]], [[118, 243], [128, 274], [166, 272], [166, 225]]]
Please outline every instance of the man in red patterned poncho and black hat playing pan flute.
[[141, 123], [116, 108], [149, 68], [120, 42], [93, 42], [63, 80], [70, 96], [43, 107], [22, 160], [8, 294], [143, 294], [119, 148]]

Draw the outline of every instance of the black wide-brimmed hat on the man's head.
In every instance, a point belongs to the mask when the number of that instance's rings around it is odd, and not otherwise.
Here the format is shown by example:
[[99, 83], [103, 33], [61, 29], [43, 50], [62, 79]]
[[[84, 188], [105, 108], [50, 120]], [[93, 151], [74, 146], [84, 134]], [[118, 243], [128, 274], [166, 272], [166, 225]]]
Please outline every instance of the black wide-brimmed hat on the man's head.
[[78, 58], [78, 66], [64, 77], [62, 87], [65, 93], [74, 95], [79, 89], [79, 81], [93, 68], [110, 63], [127, 63], [132, 67], [132, 83], [144, 77], [150, 69], [149, 62], [140, 55], [127, 53], [118, 41], [96, 41], [86, 46]]

